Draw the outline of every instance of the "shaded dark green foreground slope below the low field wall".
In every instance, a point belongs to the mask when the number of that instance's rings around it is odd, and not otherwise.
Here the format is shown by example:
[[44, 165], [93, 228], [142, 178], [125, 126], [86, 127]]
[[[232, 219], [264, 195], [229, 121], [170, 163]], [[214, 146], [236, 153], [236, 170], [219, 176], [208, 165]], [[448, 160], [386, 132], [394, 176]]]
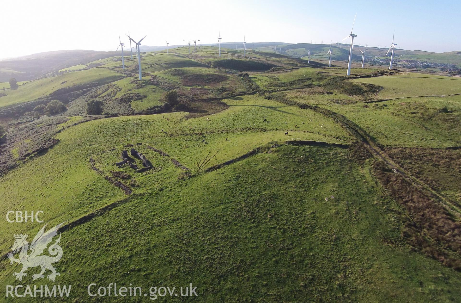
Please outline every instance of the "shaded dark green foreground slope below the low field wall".
[[[200, 301], [213, 302], [460, 295], [459, 275], [398, 244], [392, 204], [342, 149], [286, 146], [185, 182], [156, 179], [164, 190], [65, 232], [62, 281], [116, 280], [143, 289], [190, 282]], [[397, 242], [383, 244], [382, 234]], [[13, 269], [4, 270], [2, 287], [14, 283]], [[72, 299], [84, 299], [86, 287], [75, 287]]]

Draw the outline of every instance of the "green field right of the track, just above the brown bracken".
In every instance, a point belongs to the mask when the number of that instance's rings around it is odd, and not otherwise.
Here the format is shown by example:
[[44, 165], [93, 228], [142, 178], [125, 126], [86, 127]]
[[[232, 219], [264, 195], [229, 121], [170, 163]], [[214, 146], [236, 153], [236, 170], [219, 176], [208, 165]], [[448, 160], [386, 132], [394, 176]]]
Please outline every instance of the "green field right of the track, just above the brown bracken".
[[320, 105], [346, 116], [387, 146], [460, 146], [461, 96]]

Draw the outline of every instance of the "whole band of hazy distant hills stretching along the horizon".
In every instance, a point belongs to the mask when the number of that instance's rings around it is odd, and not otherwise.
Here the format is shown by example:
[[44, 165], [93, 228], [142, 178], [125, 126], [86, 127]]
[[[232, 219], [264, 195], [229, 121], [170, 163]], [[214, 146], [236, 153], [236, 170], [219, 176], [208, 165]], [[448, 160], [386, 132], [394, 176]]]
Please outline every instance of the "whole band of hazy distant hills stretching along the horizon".
[[[187, 42], [187, 41], [186, 41]], [[193, 42], [192, 42], [193, 43]], [[198, 43], [198, 42], [197, 42]], [[187, 45], [187, 44], [186, 44]], [[217, 43], [201, 44], [202, 46], [218, 47]], [[172, 50], [183, 45], [170, 45]], [[193, 44], [191, 44], [193, 46]], [[277, 52], [291, 57], [307, 57], [307, 52], [310, 50], [311, 59], [327, 59], [328, 49], [330, 44], [314, 44], [314, 43], [285, 43], [285, 42], [247, 42], [247, 48], [258, 52], [272, 53], [273, 48], [277, 48]], [[148, 46], [142, 45], [141, 52], [163, 51], [166, 46]], [[242, 48], [242, 42], [222, 42], [221, 48]], [[334, 43], [331, 45], [332, 60], [348, 60], [349, 45], [343, 43]], [[354, 46], [352, 59], [357, 61], [361, 59], [359, 49], [365, 49], [363, 46]], [[386, 52], [388, 48], [368, 47], [366, 50], [366, 59], [374, 60], [374, 64], [385, 65]], [[134, 49], [133, 49], [134, 51]], [[129, 47], [125, 48], [125, 54], [129, 55]], [[134, 53], [134, 52], [133, 52]], [[95, 50], [61, 50], [45, 53], [35, 53], [18, 58], [10, 58], [0, 60], [0, 82], [8, 82], [14, 77], [18, 81], [28, 81], [41, 77], [44, 74], [49, 74], [54, 71], [63, 71], [67, 69], [77, 70], [85, 68], [85, 64], [98, 59], [110, 58], [112, 56], [120, 56], [121, 52], [114, 51], [103, 52]], [[395, 51], [396, 62], [398, 60], [412, 60], [417, 66], [426, 67], [449, 67], [457, 66], [461, 68], [461, 52], [453, 51], [446, 53], [431, 53], [421, 50], [404, 50], [397, 48]], [[426, 63], [430, 64], [426, 64]]]

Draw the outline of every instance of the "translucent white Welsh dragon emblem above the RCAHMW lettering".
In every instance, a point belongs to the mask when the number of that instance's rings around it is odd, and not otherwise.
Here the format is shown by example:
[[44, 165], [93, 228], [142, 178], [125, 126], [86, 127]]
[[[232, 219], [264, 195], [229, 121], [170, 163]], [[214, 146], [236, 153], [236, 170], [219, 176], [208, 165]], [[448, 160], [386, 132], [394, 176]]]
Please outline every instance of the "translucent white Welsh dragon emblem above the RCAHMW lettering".
[[[13, 273], [17, 280], [22, 281], [23, 277], [27, 276], [25, 271], [28, 268], [37, 266], [41, 267], [41, 272], [32, 275], [32, 279], [34, 280], [44, 278], [43, 273], [45, 273], [47, 269], [51, 271], [51, 273], [47, 276], [50, 281], [54, 281], [56, 276], [59, 276], [59, 273], [56, 272], [56, 268], [54, 268], [51, 264], [58, 262], [62, 257], [62, 248], [58, 245], [61, 240], [60, 233], [59, 238], [48, 248], [48, 253], [51, 256], [41, 254], [47, 249], [47, 246], [52, 242], [53, 237], [58, 234], [59, 227], [61, 227], [64, 223], [65, 222], [62, 222], [57, 226], [54, 226], [52, 229], [47, 230], [47, 232], [45, 232], [45, 227], [47, 227], [48, 223], [45, 224], [45, 226], [43, 226], [35, 235], [35, 238], [30, 243], [30, 248], [29, 243], [26, 241], [28, 235], [14, 235], [16, 240], [11, 247], [12, 252], [6, 256], [10, 259], [10, 264], [18, 262], [23, 265], [23, 269], [19, 273]], [[19, 252], [19, 259], [14, 258], [14, 254], [17, 252]]]

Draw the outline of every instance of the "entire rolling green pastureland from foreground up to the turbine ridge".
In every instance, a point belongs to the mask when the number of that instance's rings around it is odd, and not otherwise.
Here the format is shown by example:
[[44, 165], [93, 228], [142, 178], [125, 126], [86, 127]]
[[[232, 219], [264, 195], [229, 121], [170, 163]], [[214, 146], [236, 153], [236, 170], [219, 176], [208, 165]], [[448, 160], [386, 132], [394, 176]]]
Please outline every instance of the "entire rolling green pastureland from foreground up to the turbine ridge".
[[[418, 217], [384, 189], [375, 162], [400, 163], [402, 176], [421, 182], [414, 190], [434, 191], [433, 204], [418, 209], [452, 205], [450, 220], [459, 223], [461, 79], [353, 68], [350, 80], [343, 67], [306, 67], [313, 65], [262, 48], [248, 58], [231, 49], [219, 58], [214, 47], [170, 51], [142, 55], [142, 80], [136, 60], [122, 71], [111, 57], [0, 97], [6, 108], [91, 86], [65, 94], [66, 111], [56, 115], [0, 111], [8, 128], [0, 165], [14, 164], [0, 175], [0, 213], [40, 209], [48, 226], [73, 222], [55, 264], [56, 283], [72, 285], [69, 302], [126, 302], [87, 294], [89, 283], [115, 282], [147, 293], [192, 283], [199, 297], [187, 302], [459, 301], [460, 271], [410, 242]], [[165, 97], [172, 90], [176, 101]], [[105, 113], [87, 114], [89, 100], [103, 101]], [[171, 107], [181, 102], [194, 110]], [[59, 142], [33, 153], [51, 139]], [[366, 140], [374, 153], [357, 143]], [[131, 148], [153, 168], [117, 167]], [[0, 221], [1, 254], [13, 234], [32, 238], [41, 226]], [[456, 234], [450, 228], [444, 235]], [[18, 268], [0, 263], [0, 288], [19, 283]], [[21, 284], [53, 285], [33, 281], [37, 270]]]

